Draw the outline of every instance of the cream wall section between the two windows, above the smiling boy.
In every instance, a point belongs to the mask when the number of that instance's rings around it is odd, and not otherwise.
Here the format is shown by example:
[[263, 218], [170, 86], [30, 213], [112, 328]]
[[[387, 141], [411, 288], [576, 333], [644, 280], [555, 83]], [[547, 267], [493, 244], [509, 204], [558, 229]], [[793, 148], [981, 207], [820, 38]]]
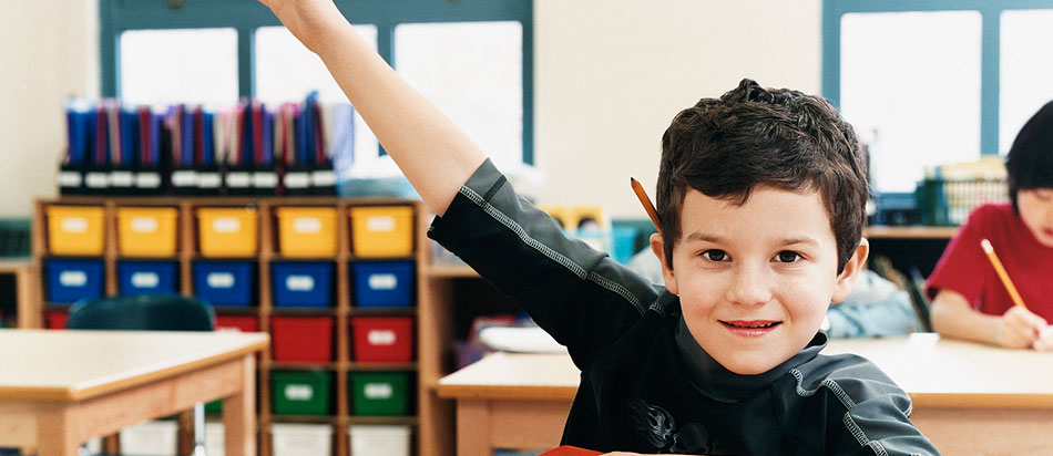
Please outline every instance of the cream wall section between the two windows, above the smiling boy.
[[677, 112], [746, 76], [820, 90], [820, 0], [534, 0], [534, 9], [545, 201], [646, 218], [628, 177], [654, 198], [662, 133]]

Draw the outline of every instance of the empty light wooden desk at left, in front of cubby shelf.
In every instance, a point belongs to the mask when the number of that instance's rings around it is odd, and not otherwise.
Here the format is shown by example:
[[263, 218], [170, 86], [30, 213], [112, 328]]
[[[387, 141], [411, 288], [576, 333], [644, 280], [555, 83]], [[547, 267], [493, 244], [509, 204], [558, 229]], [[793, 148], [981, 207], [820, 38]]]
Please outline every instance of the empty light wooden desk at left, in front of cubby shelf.
[[0, 330], [0, 446], [73, 456], [89, 438], [223, 398], [228, 456], [256, 454], [265, 333]]

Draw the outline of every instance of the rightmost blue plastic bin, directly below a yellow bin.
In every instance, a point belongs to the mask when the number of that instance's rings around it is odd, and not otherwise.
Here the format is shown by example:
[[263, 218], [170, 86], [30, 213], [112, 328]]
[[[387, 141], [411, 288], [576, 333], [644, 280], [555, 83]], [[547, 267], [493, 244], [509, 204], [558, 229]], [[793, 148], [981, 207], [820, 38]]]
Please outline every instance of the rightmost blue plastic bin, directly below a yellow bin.
[[412, 261], [360, 261], [351, 265], [355, 300], [360, 308], [405, 308], [413, 304]]

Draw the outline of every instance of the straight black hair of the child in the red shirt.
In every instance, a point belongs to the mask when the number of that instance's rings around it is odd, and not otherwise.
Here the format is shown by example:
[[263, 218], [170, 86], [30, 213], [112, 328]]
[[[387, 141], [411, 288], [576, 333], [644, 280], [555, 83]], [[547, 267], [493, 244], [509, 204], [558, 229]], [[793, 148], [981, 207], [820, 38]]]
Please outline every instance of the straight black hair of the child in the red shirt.
[[1020, 128], [1005, 157], [1009, 197], [1016, 207], [1016, 193], [1053, 188], [1053, 102], [1046, 103]]

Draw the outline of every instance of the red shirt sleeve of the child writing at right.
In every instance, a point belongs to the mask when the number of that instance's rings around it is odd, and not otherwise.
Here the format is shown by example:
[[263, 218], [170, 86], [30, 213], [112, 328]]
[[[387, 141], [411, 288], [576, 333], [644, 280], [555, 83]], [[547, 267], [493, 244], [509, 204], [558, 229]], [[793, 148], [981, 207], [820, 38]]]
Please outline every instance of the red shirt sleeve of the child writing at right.
[[979, 308], [980, 296], [983, 292], [984, 270], [991, 266], [985, 263], [980, 240], [984, 237], [984, 226], [988, 218], [985, 207], [974, 210], [965, 225], [962, 225], [947, 250], [940, 257], [932, 274], [926, 284], [929, 299], [936, 298], [939, 290], [952, 290], [963, 296], [973, 307]]

